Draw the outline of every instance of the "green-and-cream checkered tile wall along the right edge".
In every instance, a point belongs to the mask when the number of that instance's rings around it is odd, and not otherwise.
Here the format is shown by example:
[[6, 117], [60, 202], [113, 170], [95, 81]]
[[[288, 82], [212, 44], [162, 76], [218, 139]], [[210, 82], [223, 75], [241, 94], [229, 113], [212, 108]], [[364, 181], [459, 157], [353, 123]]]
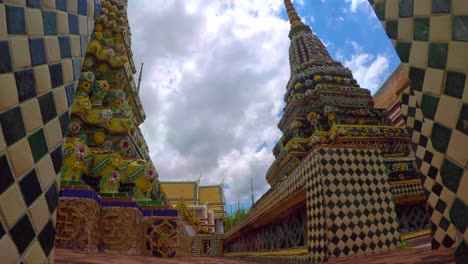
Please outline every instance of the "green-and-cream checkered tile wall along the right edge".
[[432, 247], [464, 240], [459, 255], [468, 251], [468, 1], [370, 3], [411, 81], [399, 100], [426, 176]]

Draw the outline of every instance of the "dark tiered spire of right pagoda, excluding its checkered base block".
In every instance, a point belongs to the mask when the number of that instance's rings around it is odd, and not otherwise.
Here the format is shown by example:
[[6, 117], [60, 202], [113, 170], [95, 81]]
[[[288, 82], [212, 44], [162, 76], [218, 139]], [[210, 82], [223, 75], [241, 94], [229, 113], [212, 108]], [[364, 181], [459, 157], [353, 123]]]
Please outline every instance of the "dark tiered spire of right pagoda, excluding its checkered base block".
[[351, 71], [330, 57], [289, 0], [285, 5], [291, 23], [291, 78], [278, 124], [283, 136], [273, 149], [276, 159], [267, 181], [275, 186], [317, 145], [376, 146], [387, 167], [400, 231], [414, 233], [404, 238], [428, 234], [422, 175], [407, 131], [392, 125], [386, 109], [374, 108], [370, 91], [361, 88]]

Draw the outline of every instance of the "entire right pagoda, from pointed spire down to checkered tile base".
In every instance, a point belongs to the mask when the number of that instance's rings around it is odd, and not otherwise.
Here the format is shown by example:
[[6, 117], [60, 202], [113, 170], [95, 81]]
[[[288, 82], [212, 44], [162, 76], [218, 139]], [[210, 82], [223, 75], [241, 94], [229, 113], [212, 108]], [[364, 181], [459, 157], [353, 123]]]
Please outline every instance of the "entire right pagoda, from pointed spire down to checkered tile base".
[[428, 227], [411, 139], [285, 5], [291, 78], [271, 189], [226, 234], [227, 255], [322, 262], [394, 248], [400, 231]]

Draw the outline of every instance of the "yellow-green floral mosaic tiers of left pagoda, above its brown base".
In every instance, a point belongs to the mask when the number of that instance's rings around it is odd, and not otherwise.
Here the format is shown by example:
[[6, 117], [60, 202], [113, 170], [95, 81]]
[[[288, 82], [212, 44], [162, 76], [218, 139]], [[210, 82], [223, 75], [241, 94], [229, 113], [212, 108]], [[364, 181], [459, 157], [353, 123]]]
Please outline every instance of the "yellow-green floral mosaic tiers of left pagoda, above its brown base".
[[97, 16], [71, 103], [62, 180], [154, 200], [163, 197], [153, 192], [158, 175], [138, 128], [145, 115], [132, 77], [126, 5], [103, 1]]

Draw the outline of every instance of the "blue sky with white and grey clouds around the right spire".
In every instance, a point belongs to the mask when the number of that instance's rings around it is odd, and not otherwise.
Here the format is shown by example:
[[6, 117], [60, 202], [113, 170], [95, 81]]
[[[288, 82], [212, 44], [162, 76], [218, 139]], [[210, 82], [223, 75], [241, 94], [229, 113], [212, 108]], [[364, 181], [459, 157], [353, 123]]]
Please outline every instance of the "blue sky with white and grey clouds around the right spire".
[[[289, 79], [283, 0], [129, 1], [136, 65], [145, 63], [142, 125], [162, 181], [221, 183], [227, 210], [269, 186]], [[376, 91], [398, 65], [367, 0], [296, 0], [333, 58]], [[137, 76], [136, 76], [137, 77]], [[235, 209], [234, 209], [235, 210]]]

